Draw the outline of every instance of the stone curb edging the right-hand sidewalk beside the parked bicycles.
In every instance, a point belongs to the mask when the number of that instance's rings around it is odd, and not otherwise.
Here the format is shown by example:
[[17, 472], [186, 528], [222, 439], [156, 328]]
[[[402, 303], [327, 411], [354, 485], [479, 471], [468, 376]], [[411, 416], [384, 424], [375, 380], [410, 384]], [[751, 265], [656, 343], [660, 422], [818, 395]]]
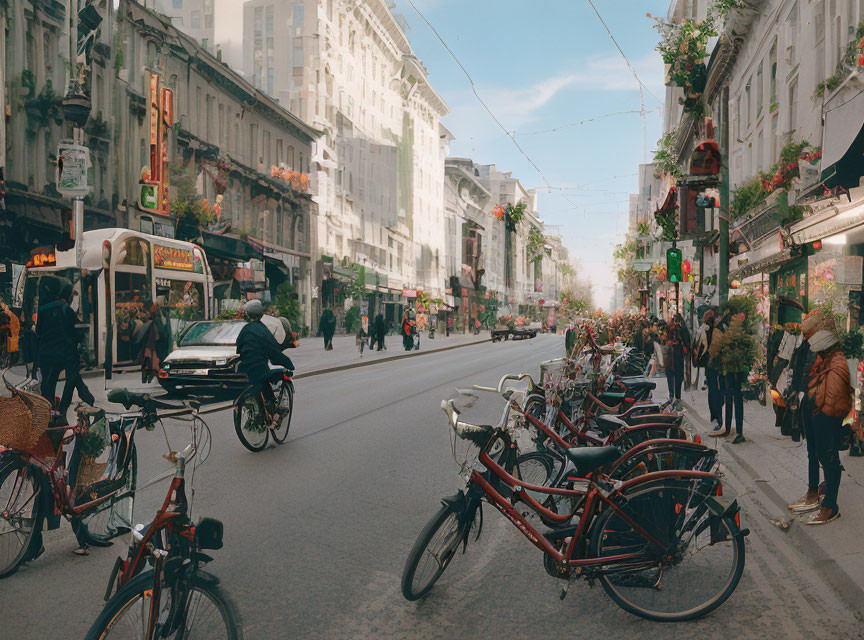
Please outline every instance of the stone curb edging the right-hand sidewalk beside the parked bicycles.
[[[683, 402], [689, 410], [689, 416], [693, 416], [695, 421], [703, 428], [709, 428], [699, 412], [688, 404]], [[688, 417], [689, 417], [688, 416]], [[735, 460], [735, 463], [741, 467], [744, 472], [753, 480], [753, 485], [759, 487], [763, 495], [780, 509], [783, 516], [787, 515], [787, 502], [777, 493], [768, 482], [758, 482], [764, 480], [762, 476], [745, 461], [738, 453], [735, 452], [735, 446], [729, 442], [722, 443], [723, 450], [729, 453], [729, 456]], [[818, 527], [817, 527], [818, 528]], [[844, 569], [834, 558], [822, 548], [820, 540], [808, 533], [808, 527], [795, 521], [794, 526], [789, 528], [788, 535], [798, 544], [798, 546], [806, 547], [807, 553], [813, 569], [824, 578], [833, 589], [837, 592], [840, 599], [852, 610], [864, 615], [864, 587], [857, 583], [851, 574]]]

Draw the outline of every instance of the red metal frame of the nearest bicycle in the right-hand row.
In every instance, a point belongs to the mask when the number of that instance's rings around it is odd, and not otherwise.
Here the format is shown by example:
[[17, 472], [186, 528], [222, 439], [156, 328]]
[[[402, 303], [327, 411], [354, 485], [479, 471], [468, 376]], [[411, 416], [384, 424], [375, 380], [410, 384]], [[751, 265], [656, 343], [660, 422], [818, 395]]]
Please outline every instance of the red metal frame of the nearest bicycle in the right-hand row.
[[[592, 478], [587, 479], [587, 491], [579, 489], [560, 489], [556, 487], [540, 487], [537, 485], [531, 485], [522, 482], [521, 480], [513, 477], [512, 475], [507, 473], [507, 471], [501, 468], [494, 460], [492, 460], [491, 457], [489, 457], [485, 450], [481, 451], [478, 459], [479, 462], [483, 464], [490, 472], [498, 476], [505, 483], [505, 485], [507, 485], [513, 491], [514, 495], [513, 501], [508, 501], [492, 486], [492, 484], [486, 478], [483, 477], [481, 473], [479, 473], [475, 469], [471, 472], [471, 481], [474, 482], [475, 485], [483, 491], [487, 501], [491, 503], [492, 506], [494, 506], [496, 509], [498, 509], [498, 511], [500, 511], [508, 520], [510, 520], [510, 522], [512, 522], [516, 526], [516, 528], [519, 529], [522, 535], [524, 535], [528, 539], [528, 541], [531, 542], [531, 544], [533, 544], [535, 547], [537, 547], [544, 553], [549, 554], [558, 563], [565, 564], [571, 567], [625, 564], [628, 563], [628, 561], [630, 560], [637, 560], [641, 556], [641, 554], [630, 553], [613, 556], [602, 556], [599, 558], [573, 557], [577, 545], [584, 545], [588, 527], [590, 526], [591, 522], [593, 522], [597, 509], [600, 507], [601, 504], [613, 509], [625, 522], [627, 522], [627, 524], [633, 527], [633, 529], [637, 533], [639, 533], [639, 535], [641, 535], [653, 547], [655, 547], [658, 552], [665, 553], [666, 548], [660, 541], [658, 541], [654, 536], [648, 533], [642, 526], [639, 525], [639, 523], [634, 521], [629, 515], [622, 511], [618, 507], [618, 505], [615, 504], [615, 498], [626, 489], [637, 486], [639, 484], [652, 482], [654, 480], [665, 479], [715, 480], [718, 483], [720, 481], [719, 476], [717, 476], [716, 474], [703, 471], [656, 471], [623, 482], [609, 492], [601, 489]], [[532, 527], [531, 524], [516, 510], [514, 504], [517, 501], [524, 502], [532, 511], [540, 515], [542, 518], [562, 524], [572, 520], [572, 518], [576, 514], [576, 511], [574, 510], [574, 512], [570, 514], [559, 515], [553, 511], [550, 511], [549, 509], [546, 509], [530, 494], [528, 494], [527, 491], [547, 495], [581, 498], [580, 504], [577, 506], [576, 510], [578, 510], [578, 507], [581, 506], [582, 514], [579, 518], [578, 524], [576, 525], [576, 529], [572, 534], [570, 543], [567, 545], [563, 553], [556, 549], [545, 536], [543, 536], [536, 529], [534, 529], [534, 527]], [[645, 562], [647, 562], [647, 564], [654, 564], [655, 561], [649, 560]], [[636, 564], [644, 564], [645, 562]]]

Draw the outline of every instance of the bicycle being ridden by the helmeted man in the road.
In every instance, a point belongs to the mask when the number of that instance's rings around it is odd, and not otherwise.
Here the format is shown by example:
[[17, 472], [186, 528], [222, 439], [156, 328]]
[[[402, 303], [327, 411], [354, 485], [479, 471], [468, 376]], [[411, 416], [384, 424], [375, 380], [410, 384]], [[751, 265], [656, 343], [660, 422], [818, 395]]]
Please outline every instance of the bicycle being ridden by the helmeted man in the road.
[[268, 380], [275, 399], [271, 405], [265, 389], [246, 387], [234, 401], [234, 430], [249, 451], [261, 451], [272, 436], [283, 444], [288, 439], [291, 415], [294, 413], [294, 371], [274, 368]]

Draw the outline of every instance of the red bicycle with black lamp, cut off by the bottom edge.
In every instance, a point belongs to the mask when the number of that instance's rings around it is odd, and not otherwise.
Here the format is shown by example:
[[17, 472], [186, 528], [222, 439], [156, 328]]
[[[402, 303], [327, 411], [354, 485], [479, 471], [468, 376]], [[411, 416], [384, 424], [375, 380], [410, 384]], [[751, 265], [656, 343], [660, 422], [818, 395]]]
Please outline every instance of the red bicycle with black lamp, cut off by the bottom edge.
[[163, 456], [174, 468], [165, 501], [149, 525], [137, 525], [132, 531], [132, 544], [126, 558], [118, 557], [114, 564], [105, 607], [87, 640], [242, 638], [235, 605], [219, 580], [201, 569], [212, 561], [204, 551], [222, 548], [222, 523], [201, 518], [192, 524], [190, 517], [201, 435], [193, 429], [193, 441], [186, 448]]

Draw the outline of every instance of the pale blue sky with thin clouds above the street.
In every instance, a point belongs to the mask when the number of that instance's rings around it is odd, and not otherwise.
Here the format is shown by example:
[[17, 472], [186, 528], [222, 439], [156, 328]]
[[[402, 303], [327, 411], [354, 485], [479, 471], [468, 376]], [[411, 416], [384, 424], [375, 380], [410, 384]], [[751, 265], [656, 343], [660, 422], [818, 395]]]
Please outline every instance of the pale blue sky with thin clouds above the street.
[[[594, 284], [595, 303], [608, 306], [612, 251], [627, 229], [628, 194], [636, 192], [638, 164], [653, 155], [662, 128], [663, 65], [646, 13], [665, 15], [668, 1], [594, 0], [647, 87], [644, 137], [639, 85], [588, 0], [413, 2], [513, 136], [486, 113], [409, 0], [395, 0], [414, 52], [450, 107], [442, 123], [456, 137], [451, 155], [494, 163], [538, 188], [541, 219], [551, 231], [558, 227]], [[216, 9], [217, 42], [237, 50], [242, 1], [216, 0]]]

